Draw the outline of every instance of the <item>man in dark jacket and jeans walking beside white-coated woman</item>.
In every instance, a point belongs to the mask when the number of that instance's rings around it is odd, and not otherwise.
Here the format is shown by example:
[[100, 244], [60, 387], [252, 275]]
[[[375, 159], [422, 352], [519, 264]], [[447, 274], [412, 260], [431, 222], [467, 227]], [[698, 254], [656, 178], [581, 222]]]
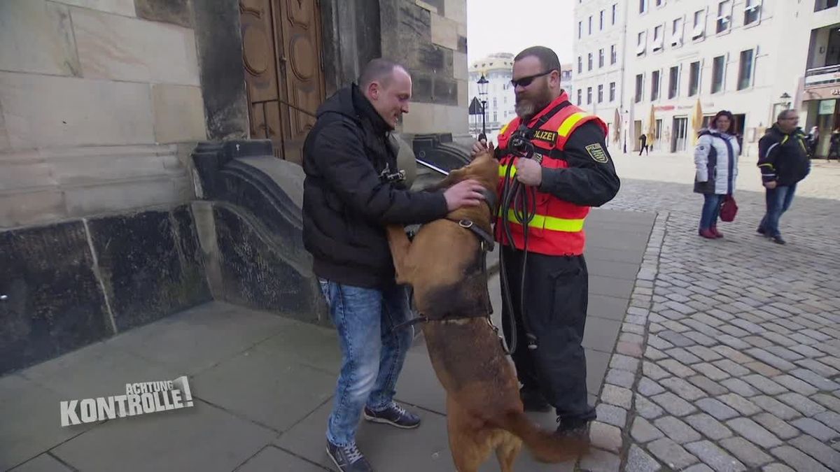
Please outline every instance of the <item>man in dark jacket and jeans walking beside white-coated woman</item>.
[[776, 244], [785, 244], [779, 231], [779, 218], [793, 202], [796, 183], [811, 171], [805, 134], [796, 126], [798, 123], [795, 110], [785, 110], [759, 139], [759, 169], [767, 189], [767, 212], [757, 231]]

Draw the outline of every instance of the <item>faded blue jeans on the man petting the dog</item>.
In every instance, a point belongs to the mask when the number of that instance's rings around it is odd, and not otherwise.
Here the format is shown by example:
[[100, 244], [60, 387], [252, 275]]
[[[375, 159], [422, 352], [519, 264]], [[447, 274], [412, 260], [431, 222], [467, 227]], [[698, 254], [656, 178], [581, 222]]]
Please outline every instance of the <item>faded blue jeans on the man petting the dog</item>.
[[339, 333], [341, 373], [327, 422], [327, 439], [337, 446], [355, 441], [362, 409], [391, 405], [414, 329], [405, 286], [385, 290], [347, 286], [319, 279], [329, 314]]

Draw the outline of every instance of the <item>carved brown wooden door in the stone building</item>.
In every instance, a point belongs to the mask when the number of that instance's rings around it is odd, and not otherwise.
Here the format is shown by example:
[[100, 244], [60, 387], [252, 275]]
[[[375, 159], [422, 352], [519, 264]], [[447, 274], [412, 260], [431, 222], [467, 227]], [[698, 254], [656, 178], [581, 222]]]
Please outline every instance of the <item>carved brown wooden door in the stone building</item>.
[[298, 164], [324, 99], [317, 0], [239, 0], [250, 136]]

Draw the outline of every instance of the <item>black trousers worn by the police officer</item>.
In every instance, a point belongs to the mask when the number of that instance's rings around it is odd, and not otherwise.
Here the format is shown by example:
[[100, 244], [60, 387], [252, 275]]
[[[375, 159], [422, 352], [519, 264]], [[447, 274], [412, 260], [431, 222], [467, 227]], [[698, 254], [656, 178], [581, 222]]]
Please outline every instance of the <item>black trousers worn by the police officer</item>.
[[[581, 346], [589, 301], [589, 273], [583, 255], [549, 256], [528, 253], [525, 291], [522, 283], [522, 251], [502, 247], [511, 291], [517, 346], [513, 362], [517, 377], [528, 389], [541, 391], [563, 421], [595, 419], [595, 409], [586, 398], [586, 357]], [[505, 288], [502, 285], [501, 327], [510, 345], [511, 329]], [[525, 313], [520, 312], [524, 296]], [[537, 337], [537, 349], [528, 349], [522, 315]]]

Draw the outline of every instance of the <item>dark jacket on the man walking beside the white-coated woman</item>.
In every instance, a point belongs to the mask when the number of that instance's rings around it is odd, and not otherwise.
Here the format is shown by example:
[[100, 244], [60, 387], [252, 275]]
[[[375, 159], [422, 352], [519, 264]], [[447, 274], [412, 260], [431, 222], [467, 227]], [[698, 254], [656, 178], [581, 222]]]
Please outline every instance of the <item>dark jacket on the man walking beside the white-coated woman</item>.
[[805, 134], [801, 128], [784, 133], [774, 123], [759, 139], [759, 169], [761, 180], [790, 186], [811, 172]]

